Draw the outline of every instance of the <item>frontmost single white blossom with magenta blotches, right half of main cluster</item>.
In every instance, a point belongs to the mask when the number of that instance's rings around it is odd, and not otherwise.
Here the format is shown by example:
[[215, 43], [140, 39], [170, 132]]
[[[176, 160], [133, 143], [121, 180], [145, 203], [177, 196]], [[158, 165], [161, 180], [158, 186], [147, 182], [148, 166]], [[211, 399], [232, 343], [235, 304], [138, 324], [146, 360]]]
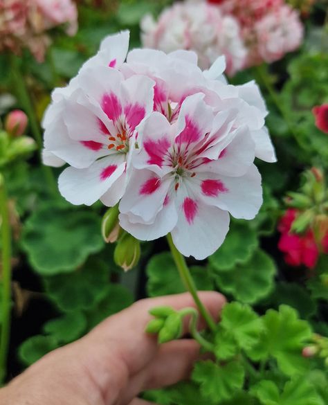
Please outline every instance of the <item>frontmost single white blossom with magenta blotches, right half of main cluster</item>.
[[[183, 255], [206, 258], [224, 241], [233, 216], [251, 219], [262, 204], [254, 142], [237, 111], [215, 114], [203, 94], [183, 102], [174, 124], [157, 112], [138, 127], [120, 225], [141, 240], [171, 232]], [[201, 243], [200, 243], [201, 241]]]

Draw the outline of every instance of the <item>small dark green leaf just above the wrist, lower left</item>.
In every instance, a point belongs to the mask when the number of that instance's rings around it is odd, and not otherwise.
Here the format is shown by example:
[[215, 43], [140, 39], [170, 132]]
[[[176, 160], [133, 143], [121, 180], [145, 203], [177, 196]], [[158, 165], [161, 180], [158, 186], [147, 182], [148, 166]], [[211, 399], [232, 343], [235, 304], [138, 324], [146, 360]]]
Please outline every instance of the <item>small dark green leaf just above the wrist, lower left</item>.
[[44, 354], [58, 348], [59, 345], [53, 336], [35, 335], [21, 343], [18, 350], [19, 359], [26, 366], [30, 366], [35, 361], [41, 359]]

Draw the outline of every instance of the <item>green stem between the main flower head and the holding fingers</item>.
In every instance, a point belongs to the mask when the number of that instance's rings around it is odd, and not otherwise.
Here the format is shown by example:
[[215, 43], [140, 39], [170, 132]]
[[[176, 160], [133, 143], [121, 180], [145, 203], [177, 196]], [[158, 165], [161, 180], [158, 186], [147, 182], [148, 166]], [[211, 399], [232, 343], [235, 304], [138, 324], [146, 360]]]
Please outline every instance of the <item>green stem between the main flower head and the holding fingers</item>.
[[203, 303], [201, 303], [201, 300], [199, 299], [199, 296], [197, 294], [196, 285], [194, 284], [192, 275], [190, 274], [188, 266], [185, 263], [185, 258], [183, 257], [183, 255], [181, 255], [181, 253], [174, 246], [174, 243], [172, 240], [172, 235], [170, 233], [167, 235], [167, 242], [170, 246], [174, 262], [176, 264], [176, 267], [179, 270], [179, 274], [180, 274], [181, 280], [183, 281], [183, 284], [185, 285], [185, 287], [188, 289], [188, 291], [192, 295], [192, 298], [194, 298], [194, 302], [196, 303], [196, 305], [199, 309], [199, 312], [201, 313], [201, 316], [203, 316], [203, 318], [207, 322], [210, 329], [212, 331], [214, 331], [216, 329], [215, 321], [213, 321], [212, 316], [210, 316], [206, 307], [204, 307]]

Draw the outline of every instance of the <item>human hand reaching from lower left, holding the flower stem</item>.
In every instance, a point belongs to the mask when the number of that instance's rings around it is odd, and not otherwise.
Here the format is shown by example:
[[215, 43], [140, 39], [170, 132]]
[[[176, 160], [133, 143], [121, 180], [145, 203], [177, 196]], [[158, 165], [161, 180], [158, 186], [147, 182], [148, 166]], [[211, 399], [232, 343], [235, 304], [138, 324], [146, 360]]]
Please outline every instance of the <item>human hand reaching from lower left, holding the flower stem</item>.
[[[199, 294], [217, 320], [225, 299], [208, 291]], [[0, 405], [146, 405], [138, 394], [187, 379], [199, 344], [180, 339], [158, 345], [145, 333], [149, 309], [168, 305], [194, 307], [190, 294], [140, 300], [107, 318], [79, 341], [47, 354], [6, 388]], [[201, 320], [199, 327], [205, 324]], [[188, 319], [185, 319], [185, 332]]]

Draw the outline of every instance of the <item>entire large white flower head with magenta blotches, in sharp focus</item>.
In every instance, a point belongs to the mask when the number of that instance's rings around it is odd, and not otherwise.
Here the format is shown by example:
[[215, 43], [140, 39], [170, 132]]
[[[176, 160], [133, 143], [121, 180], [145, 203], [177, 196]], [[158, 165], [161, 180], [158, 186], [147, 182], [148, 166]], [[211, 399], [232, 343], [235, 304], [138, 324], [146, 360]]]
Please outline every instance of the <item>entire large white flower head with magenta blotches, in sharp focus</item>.
[[44, 161], [69, 163], [59, 187], [72, 204], [119, 204], [139, 240], [172, 233], [186, 256], [224, 241], [229, 213], [262, 204], [255, 156], [275, 161], [255, 82], [226, 83], [224, 57], [207, 71], [191, 51], [136, 49], [127, 31], [107, 37], [44, 117]]

